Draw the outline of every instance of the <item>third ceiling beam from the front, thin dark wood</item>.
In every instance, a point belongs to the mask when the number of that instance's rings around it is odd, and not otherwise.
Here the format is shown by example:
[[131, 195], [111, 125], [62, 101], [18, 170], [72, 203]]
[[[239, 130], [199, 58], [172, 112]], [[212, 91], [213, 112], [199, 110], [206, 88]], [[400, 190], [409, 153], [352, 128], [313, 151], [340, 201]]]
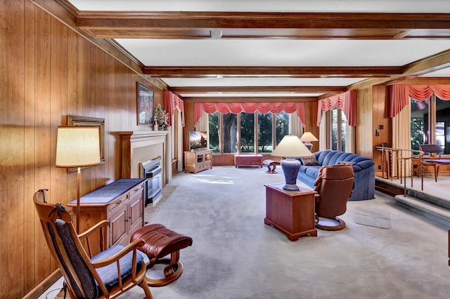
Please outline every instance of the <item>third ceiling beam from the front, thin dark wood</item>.
[[172, 93], [342, 93], [345, 86], [186, 86], [171, 87]]

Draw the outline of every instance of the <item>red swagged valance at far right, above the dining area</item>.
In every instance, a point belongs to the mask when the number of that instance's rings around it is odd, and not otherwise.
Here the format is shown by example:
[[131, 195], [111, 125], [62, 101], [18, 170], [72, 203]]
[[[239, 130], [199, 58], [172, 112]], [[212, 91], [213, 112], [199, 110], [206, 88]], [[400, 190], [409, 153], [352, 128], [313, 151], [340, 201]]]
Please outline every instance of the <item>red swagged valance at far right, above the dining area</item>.
[[409, 98], [427, 100], [434, 93], [441, 100], [450, 100], [450, 84], [436, 85], [392, 85], [389, 117], [395, 117], [409, 104]]

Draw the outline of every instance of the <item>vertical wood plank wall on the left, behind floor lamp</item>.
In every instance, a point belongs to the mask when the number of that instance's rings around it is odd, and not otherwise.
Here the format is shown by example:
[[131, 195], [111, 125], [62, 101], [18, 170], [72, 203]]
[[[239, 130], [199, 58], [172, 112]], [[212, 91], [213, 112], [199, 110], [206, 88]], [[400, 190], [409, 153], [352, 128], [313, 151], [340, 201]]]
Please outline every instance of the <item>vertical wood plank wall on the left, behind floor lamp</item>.
[[76, 173], [55, 167], [56, 131], [68, 114], [105, 119], [105, 164], [82, 171], [82, 194], [118, 177], [115, 131], [137, 126], [136, 82], [148, 81], [28, 0], [0, 2], [0, 297], [22, 298], [56, 270], [32, 197], [76, 197]]

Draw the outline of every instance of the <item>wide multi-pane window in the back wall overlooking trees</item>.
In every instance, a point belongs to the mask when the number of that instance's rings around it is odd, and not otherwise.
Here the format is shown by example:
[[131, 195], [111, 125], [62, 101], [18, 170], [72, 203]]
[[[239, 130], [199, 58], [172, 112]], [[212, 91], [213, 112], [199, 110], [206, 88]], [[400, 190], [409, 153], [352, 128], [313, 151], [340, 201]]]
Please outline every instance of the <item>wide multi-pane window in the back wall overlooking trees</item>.
[[210, 149], [214, 153], [272, 152], [289, 130], [289, 114], [209, 114]]

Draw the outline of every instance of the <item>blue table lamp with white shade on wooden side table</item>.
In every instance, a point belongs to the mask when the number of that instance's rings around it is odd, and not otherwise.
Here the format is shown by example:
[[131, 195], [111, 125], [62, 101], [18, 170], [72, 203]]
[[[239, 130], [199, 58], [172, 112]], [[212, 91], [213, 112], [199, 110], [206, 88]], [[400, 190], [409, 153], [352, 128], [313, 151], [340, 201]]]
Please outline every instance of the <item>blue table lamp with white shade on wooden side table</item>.
[[272, 156], [286, 158], [281, 160], [280, 163], [285, 178], [283, 189], [299, 190], [299, 187], [297, 186], [297, 173], [302, 164], [300, 161], [293, 158], [311, 156], [311, 152], [309, 152], [297, 135], [285, 135], [272, 152]]

